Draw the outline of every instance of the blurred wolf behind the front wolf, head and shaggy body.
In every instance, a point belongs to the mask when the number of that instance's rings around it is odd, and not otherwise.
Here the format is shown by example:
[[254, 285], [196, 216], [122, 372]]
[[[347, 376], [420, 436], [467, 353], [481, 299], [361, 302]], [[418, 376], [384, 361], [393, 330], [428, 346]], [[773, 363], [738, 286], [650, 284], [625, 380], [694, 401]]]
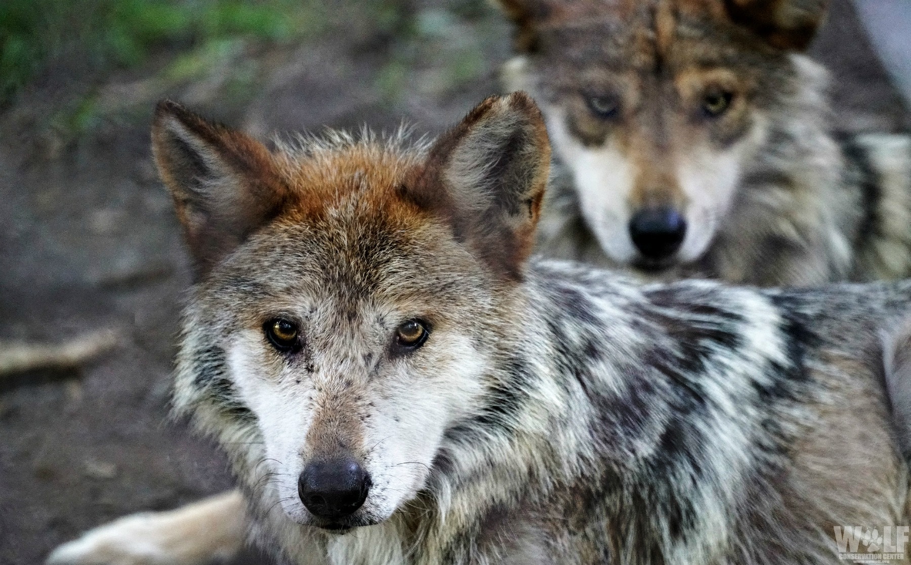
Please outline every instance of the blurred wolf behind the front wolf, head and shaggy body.
[[759, 286], [911, 275], [911, 138], [839, 136], [825, 0], [497, 0], [558, 174], [556, 257]]

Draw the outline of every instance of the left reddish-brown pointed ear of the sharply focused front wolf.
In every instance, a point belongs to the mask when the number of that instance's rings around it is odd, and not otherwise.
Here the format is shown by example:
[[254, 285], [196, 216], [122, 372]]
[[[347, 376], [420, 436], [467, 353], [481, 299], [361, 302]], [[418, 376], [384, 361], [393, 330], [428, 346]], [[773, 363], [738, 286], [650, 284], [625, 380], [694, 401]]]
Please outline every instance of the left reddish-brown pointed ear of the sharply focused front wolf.
[[174, 102], [156, 108], [152, 153], [198, 279], [281, 207], [284, 185], [265, 146]]

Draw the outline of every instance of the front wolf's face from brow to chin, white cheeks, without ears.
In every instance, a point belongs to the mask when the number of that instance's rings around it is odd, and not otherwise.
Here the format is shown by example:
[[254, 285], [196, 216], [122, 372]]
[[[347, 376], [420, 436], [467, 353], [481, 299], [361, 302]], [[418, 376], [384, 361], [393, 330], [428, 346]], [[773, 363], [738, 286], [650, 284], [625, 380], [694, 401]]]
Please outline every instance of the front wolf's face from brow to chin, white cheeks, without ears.
[[[314, 228], [322, 237], [297, 226], [253, 237], [225, 264], [233, 272], [203, 316], [248, 313], [222, 339], [281, 507], [301, 523], [350, 528], [414, 496], [443, 429], [470, 411], [485, 356], [470, 336], [490, 297], [464, 282], [476, 267], [457, 260], [442, 230], [375, 226], [380, 247], [373, 237], [333, 241], [324, 226]], [[434, 260], [447, 252], [456, 260]]]

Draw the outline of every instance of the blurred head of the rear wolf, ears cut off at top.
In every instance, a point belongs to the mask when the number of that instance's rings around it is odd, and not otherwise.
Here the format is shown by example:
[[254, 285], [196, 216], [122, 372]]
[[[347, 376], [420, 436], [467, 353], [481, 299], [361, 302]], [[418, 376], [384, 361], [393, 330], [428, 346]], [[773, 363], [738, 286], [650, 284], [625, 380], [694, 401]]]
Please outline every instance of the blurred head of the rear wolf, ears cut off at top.
[[[606, 255], [663, 269], [705, 253], [736, 189], [818, 69], [825, 0], [499, 0], [579, 207]], [[804, 103], [805, 104], [805, 103]], [[785, 156], [785, 158], [795, 158]]]

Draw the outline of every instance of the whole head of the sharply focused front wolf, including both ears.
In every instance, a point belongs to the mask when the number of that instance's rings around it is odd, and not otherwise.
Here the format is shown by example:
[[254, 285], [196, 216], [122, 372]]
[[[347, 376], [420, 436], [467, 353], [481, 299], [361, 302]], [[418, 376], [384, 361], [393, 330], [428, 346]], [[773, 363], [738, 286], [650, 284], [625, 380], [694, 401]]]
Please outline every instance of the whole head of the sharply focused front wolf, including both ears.
[[165, 102], [153, 148], [197, 272], [177, 409], [295, 522], [387, 519], [483, 394], [548, 177], [537, 106], [271, 151]]

